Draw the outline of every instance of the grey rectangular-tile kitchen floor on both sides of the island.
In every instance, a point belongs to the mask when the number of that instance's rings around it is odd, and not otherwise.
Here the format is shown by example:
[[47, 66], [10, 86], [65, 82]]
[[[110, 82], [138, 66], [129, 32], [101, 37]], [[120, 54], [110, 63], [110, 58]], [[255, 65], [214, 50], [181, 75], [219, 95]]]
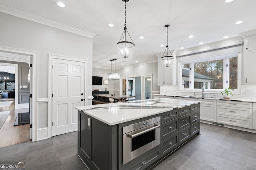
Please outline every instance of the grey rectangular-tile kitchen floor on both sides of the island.
[[[0, 161], [26, 161], [26, 170], [87, 170], [77, 132], [0, 148]], [[197, 135], [153, 170], [256, 170], [256, 134], [201, 123]]]

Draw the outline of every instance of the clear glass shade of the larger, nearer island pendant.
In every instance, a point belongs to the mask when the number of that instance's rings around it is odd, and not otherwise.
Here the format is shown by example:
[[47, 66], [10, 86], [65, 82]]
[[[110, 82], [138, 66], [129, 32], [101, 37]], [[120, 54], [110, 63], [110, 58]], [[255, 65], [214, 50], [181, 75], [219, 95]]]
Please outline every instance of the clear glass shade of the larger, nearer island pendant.
[[116, 45], [117, 53], [121, 61], [129, 61], [132, 58], [134, 44], [129, 41], [120, 41]]

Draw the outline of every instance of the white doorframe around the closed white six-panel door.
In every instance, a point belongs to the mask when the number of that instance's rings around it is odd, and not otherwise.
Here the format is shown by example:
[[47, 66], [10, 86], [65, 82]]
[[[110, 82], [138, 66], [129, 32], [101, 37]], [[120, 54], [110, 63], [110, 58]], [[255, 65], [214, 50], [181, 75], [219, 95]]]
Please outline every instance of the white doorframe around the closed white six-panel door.
[[86, 90], [86, 87], [88, 87], [88, 61], [87, 60], [81, 60], [81, 59], [76, 59], [68, 56], [63, 56], [63, 55], [55, 55], [55, 54], [48, 54], [48, 138], [52, 137], [52, 64], [53, 64], [53, 59], [62, 59], [62, 60], [68, 60], [68, 61], [77, 61], [84, 63], [84, 105], [88, 103], [88, 92]]

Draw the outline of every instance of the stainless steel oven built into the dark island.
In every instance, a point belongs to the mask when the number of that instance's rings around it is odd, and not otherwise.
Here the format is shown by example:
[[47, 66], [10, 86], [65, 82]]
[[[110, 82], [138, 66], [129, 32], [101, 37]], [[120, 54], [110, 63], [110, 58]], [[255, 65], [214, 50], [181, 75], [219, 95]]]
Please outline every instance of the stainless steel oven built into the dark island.
[[160, 116], [123, 127], [123, 164], [160, 145]]

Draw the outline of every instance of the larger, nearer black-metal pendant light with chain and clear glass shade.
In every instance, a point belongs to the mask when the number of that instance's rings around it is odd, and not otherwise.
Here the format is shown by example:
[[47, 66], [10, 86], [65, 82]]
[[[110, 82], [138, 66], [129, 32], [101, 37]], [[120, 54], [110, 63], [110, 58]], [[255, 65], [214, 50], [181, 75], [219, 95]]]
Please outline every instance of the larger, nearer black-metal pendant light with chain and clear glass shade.
[[[122, 0], [125, 2], [125, 10], [124, 10], [124, 31], [122, 33], [122, 36], [120, 38], [120, 41], [116, 44], [117, 47], [117, 53], [121, 61], [129, 61], [132, 58], [133, 53], [133, 47], [134, 42], [130, 42], [126, 40], [126, 32], [128, 33], [127, 27], [126, 27], [126, 2], [129, 0]], [[130, 34], [128, 33], [130, 39], [132, 40]]]

